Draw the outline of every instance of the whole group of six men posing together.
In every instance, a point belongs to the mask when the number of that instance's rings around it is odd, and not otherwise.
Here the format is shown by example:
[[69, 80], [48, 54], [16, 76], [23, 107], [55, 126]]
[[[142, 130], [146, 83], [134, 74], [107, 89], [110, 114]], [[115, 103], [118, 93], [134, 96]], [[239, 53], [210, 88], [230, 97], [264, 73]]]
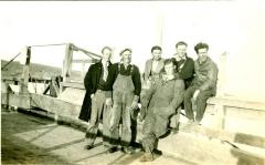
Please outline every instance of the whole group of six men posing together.
[[206, 100], [216, 93], [218, 66], [208, 55], [206, 43], [194, 47], [195, 61], [187, 55], [187, 47], [186, 42], [178, 42], [171, 59], [162, 59], [162, 49], [152, 47], [144, 80], [138, 66], [131, 64], [131, 49], [124, 49], [120, 62], [112, 64], [113, 50], [103, 48], [102, 60], [89, 66], [84, 80], [86, 95], [80, 118], [89, 118], [85, 135], [87, 149], [94, 146], [102, 118], [107, 152], [114, 153], [120, 145], [123, 152], [132, 154], [131, 142], [136, 135], [131, 123], [137, 118], [134, 112], [138, 104], [141, 105], [139, 118], [144, 121], [141, 162], [153, 159], [158, 140], [168, 132], [169, 120], [179, 107], [184, 107], [189, 123], [200, 124]]

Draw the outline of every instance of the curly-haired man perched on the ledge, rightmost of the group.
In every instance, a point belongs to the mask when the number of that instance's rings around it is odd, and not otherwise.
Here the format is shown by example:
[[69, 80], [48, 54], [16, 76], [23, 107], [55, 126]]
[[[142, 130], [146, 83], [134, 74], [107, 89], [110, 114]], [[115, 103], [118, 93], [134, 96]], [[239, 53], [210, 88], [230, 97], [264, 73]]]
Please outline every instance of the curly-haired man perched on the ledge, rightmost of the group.
[[[198, 43], [194, 50], [199, 56], [194, 64], [195, 78], [186, 91], [184, 109], [189, 122], [195, 120], [195, 123], [200, 124], [206, 107], [206, 100], [216, 93], [219, 70], [218, 65], [208, 56], [209, 45], [206, 43]], [[192, 110], [192, 102], [194, 110]], [[197, 113], [195, 118], [193, 111]]]

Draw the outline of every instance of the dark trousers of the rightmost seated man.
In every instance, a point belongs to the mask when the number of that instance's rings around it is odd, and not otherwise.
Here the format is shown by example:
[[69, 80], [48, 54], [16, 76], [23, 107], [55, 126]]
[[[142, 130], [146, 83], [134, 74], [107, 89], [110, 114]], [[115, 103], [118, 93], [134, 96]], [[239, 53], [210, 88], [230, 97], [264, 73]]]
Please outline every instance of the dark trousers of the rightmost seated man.
[[[200, 93], [197, 96], [197, 100], [193, 101], [192, 96], [199, 87], [197, 86], [190, 86], [187, 89], [184, 93], [184, 110], [186, 110], [186, 115], [189, 120], [194, 121], [194, 113], [195, 111], [195, 121], [201, 122], [204, 111], [206, 109], [206, 100], [211, 96], [214, 95], [213, 90], [209, 91], [200, 91]], [[193, 104], [192, 104], [193, 102]], [[192, 107], [193, 106], [193, 107]]]

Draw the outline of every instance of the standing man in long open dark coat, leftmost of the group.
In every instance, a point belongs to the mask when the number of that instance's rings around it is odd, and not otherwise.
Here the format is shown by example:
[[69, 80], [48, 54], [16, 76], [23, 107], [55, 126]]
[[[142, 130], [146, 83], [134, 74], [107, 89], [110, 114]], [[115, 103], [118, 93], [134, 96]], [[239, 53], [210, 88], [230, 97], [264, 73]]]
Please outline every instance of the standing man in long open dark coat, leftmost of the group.
[[85, 137], [87, 144], [86, 148], [91, 149], [93, 148], [93, 144], [96, 140], [99, 120], [103, 114], [104, 144], [108, 147], [108, 152], [113, 153], [116, 151], [116, 147], [112, 146], [112, 138], [108, 128], [110, 105], [113, 104], [112, 84], [108, 83], [108, 74], [112, 65], [109, 61], [112, 56], [112, 49], [109, 47], [105, 47], [103, 48], [102, 53], [102, 60], [95, 64], [92, 64], [86, 73], [84, 80], [86, 95], [83, 101], [80, 118], [88, 121], [89, 117], [89, 125], [87, 127]]

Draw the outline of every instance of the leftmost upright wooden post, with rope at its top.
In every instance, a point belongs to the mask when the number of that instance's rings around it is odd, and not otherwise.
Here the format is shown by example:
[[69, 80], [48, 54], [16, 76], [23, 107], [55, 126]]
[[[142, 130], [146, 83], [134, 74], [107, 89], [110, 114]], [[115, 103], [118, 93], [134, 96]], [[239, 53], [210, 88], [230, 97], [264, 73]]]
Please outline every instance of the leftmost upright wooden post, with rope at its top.
[[24, 51], [24, 56], [22, 64], [23, 64], [23, 72], [22, 72], [22, 78], [20, 81], [20, 93], [29, 93], [28, 91], [28, 84], [29, 84], [29, 76], [30, 76], [30, 59], [31, 59], [31, 48], [25, 47]]

